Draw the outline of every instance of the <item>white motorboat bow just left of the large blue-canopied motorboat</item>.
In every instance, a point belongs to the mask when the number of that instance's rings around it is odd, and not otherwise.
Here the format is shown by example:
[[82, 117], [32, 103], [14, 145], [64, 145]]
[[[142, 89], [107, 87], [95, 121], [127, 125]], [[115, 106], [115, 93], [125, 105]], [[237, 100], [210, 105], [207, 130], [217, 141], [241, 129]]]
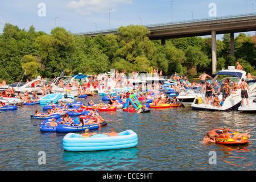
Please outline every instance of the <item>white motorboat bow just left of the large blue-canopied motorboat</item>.
[[201, 92], [201, 89], [201, 86], [193, 86], [188, 88], [185, 92], [181, 92], [176, 98], [183, 106], [191, 106], [197, 95]]

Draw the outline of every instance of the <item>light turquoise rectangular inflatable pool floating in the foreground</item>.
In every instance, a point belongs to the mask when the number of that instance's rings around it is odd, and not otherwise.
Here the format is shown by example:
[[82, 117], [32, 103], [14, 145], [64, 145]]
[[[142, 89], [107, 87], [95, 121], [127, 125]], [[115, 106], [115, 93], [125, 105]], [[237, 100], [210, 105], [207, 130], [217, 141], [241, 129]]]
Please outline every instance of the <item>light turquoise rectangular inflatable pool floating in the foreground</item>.
[[84, 138], [82, 135], [68, 133], [63, 138], [63, 149], [67, 151], [97, 151], [131, 148], [138, 144], [138, 135], [133, 130], [126, 130], [116, 137], [104, 134]]

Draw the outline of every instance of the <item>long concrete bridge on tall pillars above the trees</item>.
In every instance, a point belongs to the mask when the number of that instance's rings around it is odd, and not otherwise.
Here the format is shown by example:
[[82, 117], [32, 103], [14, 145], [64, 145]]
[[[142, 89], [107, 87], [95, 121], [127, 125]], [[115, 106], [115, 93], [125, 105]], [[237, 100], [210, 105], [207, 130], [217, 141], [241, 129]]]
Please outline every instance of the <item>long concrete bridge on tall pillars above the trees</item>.
[[[161, 40], [162, 45], [166, 39], [185, 38], [191, 36], [212, 35], [212, 73], [216, 72], [217, 52], [216, 34], [230, 34], [230, 52], [234, 54], [234, 33], [256, 31], [256, 14], [241, 14], [195, 19], [174, 23], [159, 23], [144, 25], [151, 32], [150, 40]], [[87, 35], [94, 37], [98, 34], [118, 34], [118, 28], [110, 30], [81, 32], [73, 35]]]

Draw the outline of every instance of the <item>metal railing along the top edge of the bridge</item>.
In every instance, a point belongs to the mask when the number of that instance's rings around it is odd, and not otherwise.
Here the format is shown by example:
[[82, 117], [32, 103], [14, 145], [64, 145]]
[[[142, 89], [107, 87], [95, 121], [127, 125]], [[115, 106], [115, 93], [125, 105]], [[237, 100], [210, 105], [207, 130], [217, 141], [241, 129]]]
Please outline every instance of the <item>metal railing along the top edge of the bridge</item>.
[[[192, 20], [182, 20], [178, 22], [167, 22], [167, 23], [155, 23], [155, 24], [146, 24], [143, 25], [144, 27], [151, 28], [151, 27], [163, 27], [163, 26], [172, 26], [177, 24], [185, 24], [185, 23], [196, 23], [196, 22], [208, 22], [212, 20], [224, 20], [224, 19], [232, 19], [232, 18], [247, 18], [249, 16], [256, 16], [256, 13], [247, 13], [247, 14], [238, 14], [238, 15], [228, 15], [228, 16], [216, 16], [212, 18], [202, 18], [202, 19], [192, 19]], [[74, 33], [73, 35], [92, 35], [92, 34], [102, 34], [106, 32], [117, 32], [118, 28], [112, 29], [105, 29], [99, 31], [88, 31], [88, 32], [80, 32]]]

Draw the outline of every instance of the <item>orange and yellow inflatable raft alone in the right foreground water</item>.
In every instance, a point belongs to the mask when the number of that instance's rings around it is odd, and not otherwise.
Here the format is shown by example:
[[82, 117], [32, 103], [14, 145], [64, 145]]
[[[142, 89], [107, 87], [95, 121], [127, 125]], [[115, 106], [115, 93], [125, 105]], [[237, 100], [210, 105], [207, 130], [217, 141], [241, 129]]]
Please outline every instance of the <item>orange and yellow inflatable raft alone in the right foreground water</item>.
[[[242, 137], [242, 139], [238, 138], [238, 139], [233, 139], [233, 138], [222, 138], [222, 137], [218, 137], [218, 135], [220, 135], [222, 133], [224, 129], [215, 129], [210, 131], [209, 133], [211, 135], [216, 136], [216, 142], [220, 143], [220, 144], [245, 144], [248, 143], [249, 140], [246, 137]], [[230, 130], [228, 129], [229, 133], [232, 134], [237, 134], [236, 131]]]

